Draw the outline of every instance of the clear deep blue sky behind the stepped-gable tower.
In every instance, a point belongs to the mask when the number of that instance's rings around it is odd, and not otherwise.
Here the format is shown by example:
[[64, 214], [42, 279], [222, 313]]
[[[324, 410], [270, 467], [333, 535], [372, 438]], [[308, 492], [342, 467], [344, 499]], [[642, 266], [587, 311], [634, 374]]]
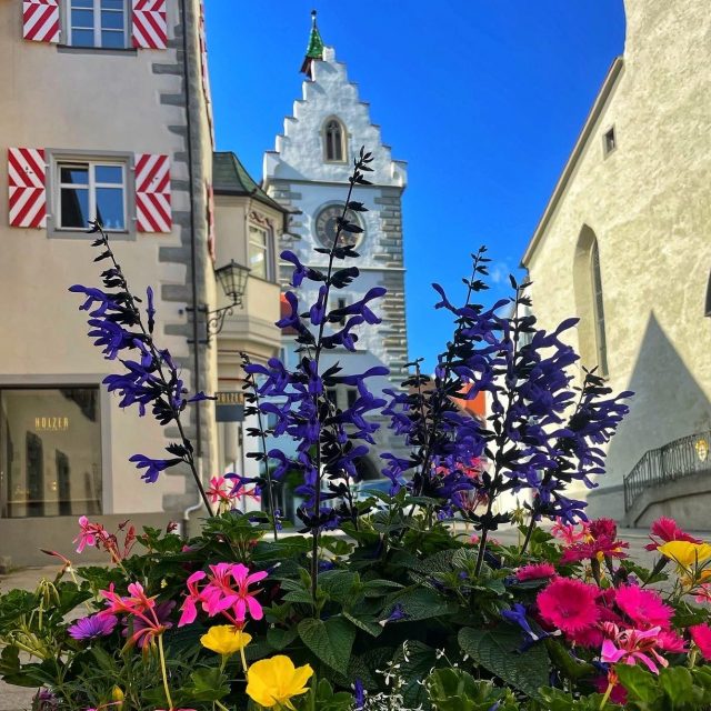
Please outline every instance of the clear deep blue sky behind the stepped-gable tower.
[[403, 197], [411, 358], [434, 363], [451, 326], [432, 316], [432, 281], [461, 290], [470, 252], [493, 259], [503, 293], [612, 59], [622, 0], [208, 0], [219, 150], [256, 180], [284, 116], [310, 11], [371, 103]]

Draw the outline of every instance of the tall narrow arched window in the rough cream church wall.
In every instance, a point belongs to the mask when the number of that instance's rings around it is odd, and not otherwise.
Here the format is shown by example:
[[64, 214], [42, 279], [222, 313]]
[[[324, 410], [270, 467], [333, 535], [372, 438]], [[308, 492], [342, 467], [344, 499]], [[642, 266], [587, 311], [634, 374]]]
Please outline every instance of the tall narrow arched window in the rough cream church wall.
[[585, 368], [597, 367], [598, 374], [604, 378], [609, 370], [600, 250], [595, 233], [587, 224], [578, 238], [573, 274], [582, 364]]

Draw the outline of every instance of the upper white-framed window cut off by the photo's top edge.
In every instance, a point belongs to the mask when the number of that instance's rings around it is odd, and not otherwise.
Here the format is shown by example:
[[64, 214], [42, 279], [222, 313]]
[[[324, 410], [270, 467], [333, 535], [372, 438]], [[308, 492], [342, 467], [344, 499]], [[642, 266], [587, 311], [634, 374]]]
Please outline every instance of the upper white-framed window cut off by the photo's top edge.
[[67, 0], [68, 44], [128, 47], [128, 0]]

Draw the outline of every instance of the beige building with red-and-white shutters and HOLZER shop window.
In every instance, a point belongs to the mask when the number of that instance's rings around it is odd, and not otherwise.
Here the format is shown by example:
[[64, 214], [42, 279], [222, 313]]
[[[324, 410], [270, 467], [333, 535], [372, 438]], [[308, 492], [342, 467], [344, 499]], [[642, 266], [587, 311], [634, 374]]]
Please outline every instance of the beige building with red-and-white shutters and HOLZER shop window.
[[[216, 270], [273, 262], [282, 213], [257, 211], [271, 222], [262, 251], [250, 251], [248, 222], [230, 216], [240, 198], [214, 194], [199, 0], [3, 2], [0, 79], [0, 558], [33, 564], [40, 548], [70, 552], [84, 513], [110, 528], [199, 513], [186, 471], [146, 484], [128, 461], [161, 457], [177, 431], [121, 410], [101, 385], [117, 364], [91, 344], [67, 291], [100, 283], [88, 220], [109, 230], [131, 288], [153, 288], [157, 340], [187, 387], [212, 394], [239, 389], [236, 350], [278, 352], [263, 322], [278, 317], [279, 288], [259, 267], [222, 333], [204, 341], [211, 312], [230, 306]], [[241, 460], [239, 432], [224, 441], [213, 402], [187, 417], [203, 480]]]

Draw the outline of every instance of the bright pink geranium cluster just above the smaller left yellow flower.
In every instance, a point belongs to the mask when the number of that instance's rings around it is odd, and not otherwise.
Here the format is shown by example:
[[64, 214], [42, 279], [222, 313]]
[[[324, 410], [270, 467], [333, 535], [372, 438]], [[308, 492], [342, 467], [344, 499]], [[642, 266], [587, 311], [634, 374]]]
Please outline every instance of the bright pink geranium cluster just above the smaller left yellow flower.
[[[242, 563], [217, 563], [210, 565], [210, 573], [200, 570], [188, 578], [188, 595], [181, 607], [182, 614], [178, 627], [193, 622], [198, 614], [198, 604], [208, 617], [222, 614], [236, 627], [242, 627], [247, 614], [253, 620], [263, 617], [262, 605], [254, 597], [250, 585], [267, 578], [266, 571], [249, 572]], [[206, 584], [200, 588], [202, 582]]]

